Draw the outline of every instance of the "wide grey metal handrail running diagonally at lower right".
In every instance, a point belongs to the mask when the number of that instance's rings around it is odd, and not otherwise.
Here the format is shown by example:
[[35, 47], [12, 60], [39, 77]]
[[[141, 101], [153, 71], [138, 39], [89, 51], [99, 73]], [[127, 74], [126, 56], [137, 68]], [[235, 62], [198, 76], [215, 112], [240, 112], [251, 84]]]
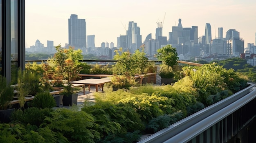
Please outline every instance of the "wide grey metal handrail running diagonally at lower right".
[[[238, 107], [245, 105], [250, 99], [255, 98], [256, 90], [251, 90], [251, 88], [255, 87], [255, 84], [247, 84], [250, 86], [137, 143], [163, 143], [164, 141], [166, 141], [166, 143], [183, 143], [193, 139], [196, 135], [200, 134], [200, 132], [203, 132], [203, 129], [211, 127], [213, 123], [227, 117], [232, 111], [234, 112]], [[186, 136], [184, 136], [184, 134], [186, 134]]]

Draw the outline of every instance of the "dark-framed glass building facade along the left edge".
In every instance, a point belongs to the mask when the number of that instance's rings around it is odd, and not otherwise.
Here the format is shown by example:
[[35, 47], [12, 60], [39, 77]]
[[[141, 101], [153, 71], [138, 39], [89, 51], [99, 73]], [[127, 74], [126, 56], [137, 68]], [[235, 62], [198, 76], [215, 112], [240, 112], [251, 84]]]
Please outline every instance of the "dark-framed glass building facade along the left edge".
[[0, 74], [17, 84], [25, 69], [25, 0], [0, 0]]

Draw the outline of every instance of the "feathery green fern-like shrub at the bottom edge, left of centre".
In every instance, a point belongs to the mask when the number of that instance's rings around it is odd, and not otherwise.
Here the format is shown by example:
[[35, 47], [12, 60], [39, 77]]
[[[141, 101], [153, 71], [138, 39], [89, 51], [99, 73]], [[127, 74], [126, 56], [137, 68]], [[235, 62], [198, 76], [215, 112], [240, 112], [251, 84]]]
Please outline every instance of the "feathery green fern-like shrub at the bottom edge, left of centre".
[[72, 143], [94, 143], [100, 138], [95, 130], [98, 126], [93, 117], [83, 111], [58, 108], [46, 117], [40, 127], [49, 127], [54, 132], [60, 132]]

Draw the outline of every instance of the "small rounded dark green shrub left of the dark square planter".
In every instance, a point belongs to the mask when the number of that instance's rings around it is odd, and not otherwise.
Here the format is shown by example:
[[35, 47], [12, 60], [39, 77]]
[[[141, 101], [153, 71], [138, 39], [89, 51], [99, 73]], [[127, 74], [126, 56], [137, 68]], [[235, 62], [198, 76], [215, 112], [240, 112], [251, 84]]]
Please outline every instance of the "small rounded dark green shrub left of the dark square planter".
[[56, 101], [54, 100], [54, 97], [50, 95], [49, 92], [40, 92], [35, 95], [32, 107], [36, 108], [53, 108], [56, 106]]

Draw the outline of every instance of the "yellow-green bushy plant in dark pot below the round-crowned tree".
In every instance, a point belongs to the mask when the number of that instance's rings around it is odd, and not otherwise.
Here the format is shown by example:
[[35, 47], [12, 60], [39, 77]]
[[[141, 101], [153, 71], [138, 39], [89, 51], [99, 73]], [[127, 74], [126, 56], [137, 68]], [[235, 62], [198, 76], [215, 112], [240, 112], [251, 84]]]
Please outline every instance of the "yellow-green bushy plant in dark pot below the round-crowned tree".
[[173, 68], [166, 64], [162, 64], [159, 70], [158, 75], [161, 77], [161, 84], [171, 84], [173, 81], [174, 73]]

